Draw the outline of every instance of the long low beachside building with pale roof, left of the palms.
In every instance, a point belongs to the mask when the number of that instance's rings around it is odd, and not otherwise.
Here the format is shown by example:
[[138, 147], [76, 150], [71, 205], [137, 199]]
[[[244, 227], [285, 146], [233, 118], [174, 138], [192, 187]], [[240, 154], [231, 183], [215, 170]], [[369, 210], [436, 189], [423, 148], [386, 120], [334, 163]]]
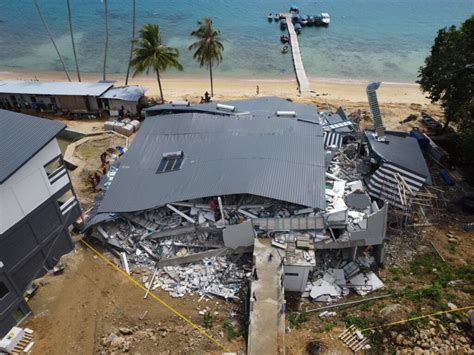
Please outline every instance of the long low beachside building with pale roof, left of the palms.
[[113, 86], [110, 81], [0, 80], [0, 108], [95, 115], [106, 112], [110, 116], [118, 116], [119, 111], [123, 110], [136, 115], [145, 89], [140, 86]]

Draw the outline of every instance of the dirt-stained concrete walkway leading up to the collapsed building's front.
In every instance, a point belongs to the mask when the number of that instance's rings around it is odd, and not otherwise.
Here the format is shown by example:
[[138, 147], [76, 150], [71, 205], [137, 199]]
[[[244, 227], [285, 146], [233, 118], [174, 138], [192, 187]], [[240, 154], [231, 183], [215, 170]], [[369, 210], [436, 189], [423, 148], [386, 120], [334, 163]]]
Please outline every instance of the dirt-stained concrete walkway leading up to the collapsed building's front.
[[248, 354], [285, 353], [284, 254], [272, 246], [271, 239], [255, 239]]

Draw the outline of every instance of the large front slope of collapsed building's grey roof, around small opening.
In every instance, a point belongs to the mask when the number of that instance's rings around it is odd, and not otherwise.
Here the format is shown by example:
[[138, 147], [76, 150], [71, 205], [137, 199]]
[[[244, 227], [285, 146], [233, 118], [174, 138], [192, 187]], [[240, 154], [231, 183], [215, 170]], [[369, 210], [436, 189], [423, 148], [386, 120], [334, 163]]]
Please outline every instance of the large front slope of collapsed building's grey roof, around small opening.
[[[183, 151], [180, 170], [156, 174], [163, 153]], [[284, 118], [173, 114], [148, 117], [99, 212], [253, 194], [325, 208], [323, 131]]]

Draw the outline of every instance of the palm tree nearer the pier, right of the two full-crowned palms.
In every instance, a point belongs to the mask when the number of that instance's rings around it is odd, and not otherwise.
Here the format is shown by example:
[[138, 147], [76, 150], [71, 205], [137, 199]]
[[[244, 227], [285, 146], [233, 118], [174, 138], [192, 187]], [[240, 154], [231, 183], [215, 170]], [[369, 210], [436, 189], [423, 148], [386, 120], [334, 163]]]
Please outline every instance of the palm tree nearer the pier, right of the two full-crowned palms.
[[196, 49], [193, 58], [199, 66], [208, 66], [211, 78], [211, 96], [214, 96], [214, 83], [212, 80], [212, 66], [222, 62], [222, 52], [224, 45], [221, 43], [221, 31], [212, 27], [212, 20], [209, 17], [198, 21], [198, 28], [191, 32], [191, 36], [198, 40], [189, 46], [189, 50]]

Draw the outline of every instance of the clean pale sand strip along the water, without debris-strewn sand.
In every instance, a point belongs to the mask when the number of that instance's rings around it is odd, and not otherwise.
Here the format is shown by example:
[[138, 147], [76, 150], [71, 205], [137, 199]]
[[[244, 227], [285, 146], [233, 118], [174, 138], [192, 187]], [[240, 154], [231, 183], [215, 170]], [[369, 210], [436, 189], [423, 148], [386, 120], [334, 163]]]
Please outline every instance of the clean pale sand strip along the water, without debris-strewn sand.
[[[70, 72], [74, 79], [74, 72]], [[102, 80], [101, 74], [82, 73], [83, 81]], [[124, 74], [110, 74], [108, 80], [116, 81], [116, 85], [124, 85]], [[66, 81], [62, 71], [0, 71], [0, 80], [44, 80]], [[74, 80], [73, 80], [74, 81]], [[216, 75], [214, 77], [215, 99], [232, 100], [256, 97], [256, 87], [259, 86], [259, 96], [280, 96], [299, 101], [314, 99], [325, 104], [343, 105], [345, 102], [367, 102], [366, 86], [369, 80], [310, 78], [312, 94], [301, 97], [297, 91], [294, 77], [256, 78]], [[166, 100], [199, 101], [204, 92], [210, 91], [207, 72], [202, 75], [186, 75], [174, 73], [165, 74], [162, 79], [163, 92]], [[140, 85], [147, 89], [147, 96], [157, 96], [158, 85], [154, 76], [130, 77], [129, 85]], [[379, 102], [429, 105], [430, 102], [420, 91], [416, 83], [384, 82], [378, 91]]]

